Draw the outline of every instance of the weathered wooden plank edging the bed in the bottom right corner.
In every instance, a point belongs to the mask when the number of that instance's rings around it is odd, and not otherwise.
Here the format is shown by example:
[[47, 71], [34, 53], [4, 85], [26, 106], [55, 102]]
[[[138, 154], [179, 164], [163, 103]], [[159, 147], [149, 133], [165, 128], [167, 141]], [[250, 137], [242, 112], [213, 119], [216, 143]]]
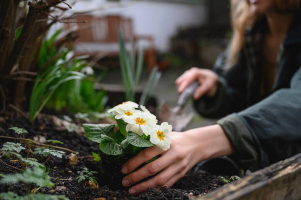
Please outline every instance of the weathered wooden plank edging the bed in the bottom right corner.
[[301, 200], [301, 153], [197, 200]]

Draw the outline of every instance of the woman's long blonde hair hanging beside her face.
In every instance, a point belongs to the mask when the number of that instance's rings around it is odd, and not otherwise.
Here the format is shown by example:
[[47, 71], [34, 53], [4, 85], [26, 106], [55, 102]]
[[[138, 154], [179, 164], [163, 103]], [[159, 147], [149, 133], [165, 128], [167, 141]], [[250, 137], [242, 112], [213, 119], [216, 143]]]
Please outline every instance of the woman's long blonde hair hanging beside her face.
[[[288, 13], [300, 10], [301, 0], [275, 0], [275, 10]], [[249, 0], [231, 0], [231, 23], [233, 36], [227, 57], [229, 67], [237, 63], [239, 53], [244, 46], [245, 30], [252, 27], [260, 16], [251, 10]]]

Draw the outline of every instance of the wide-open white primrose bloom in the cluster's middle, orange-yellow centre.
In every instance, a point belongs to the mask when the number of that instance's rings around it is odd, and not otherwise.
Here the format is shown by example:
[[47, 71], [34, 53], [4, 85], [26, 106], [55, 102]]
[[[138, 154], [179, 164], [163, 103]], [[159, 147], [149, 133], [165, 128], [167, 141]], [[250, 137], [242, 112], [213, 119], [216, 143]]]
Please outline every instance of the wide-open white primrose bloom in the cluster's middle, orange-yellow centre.
[[151, 130], [156, 126], [157, 119], [153, 118], [151, 113], [140, 112], [139, 114], [133, 115], [133, 117], [124, 118], [124, 122], [127, 123], [125, 126], [126, 131], [133, 131], [138, 135], [150, 135]]

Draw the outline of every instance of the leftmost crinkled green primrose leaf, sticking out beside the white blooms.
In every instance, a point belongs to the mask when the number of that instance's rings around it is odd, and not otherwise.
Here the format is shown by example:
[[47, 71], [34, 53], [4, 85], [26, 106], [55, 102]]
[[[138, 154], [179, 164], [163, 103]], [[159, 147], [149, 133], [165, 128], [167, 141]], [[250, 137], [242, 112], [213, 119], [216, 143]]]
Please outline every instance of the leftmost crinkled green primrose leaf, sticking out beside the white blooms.
[[100, 143], [101, 135], [109, 135], [114, 132], [115, 125], [111, 124], [83, 124], [84, 130], [89, 140]]

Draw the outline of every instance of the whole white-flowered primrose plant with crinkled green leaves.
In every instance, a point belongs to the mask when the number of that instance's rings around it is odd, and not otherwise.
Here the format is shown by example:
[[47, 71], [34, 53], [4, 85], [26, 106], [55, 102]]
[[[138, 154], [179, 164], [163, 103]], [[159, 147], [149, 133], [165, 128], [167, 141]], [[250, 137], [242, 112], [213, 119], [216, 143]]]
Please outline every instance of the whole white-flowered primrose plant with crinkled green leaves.
[[126, 101], [108, 112], [115, 116], [117, 127], [112, 124], [83, 124], [87, 137], [99, 143], [101, 154], [136, 154], [154, 145], [162, 150], [170, 148], [172, 126], [167, 122], [157, 125], [156, 117], [145, 106]]

